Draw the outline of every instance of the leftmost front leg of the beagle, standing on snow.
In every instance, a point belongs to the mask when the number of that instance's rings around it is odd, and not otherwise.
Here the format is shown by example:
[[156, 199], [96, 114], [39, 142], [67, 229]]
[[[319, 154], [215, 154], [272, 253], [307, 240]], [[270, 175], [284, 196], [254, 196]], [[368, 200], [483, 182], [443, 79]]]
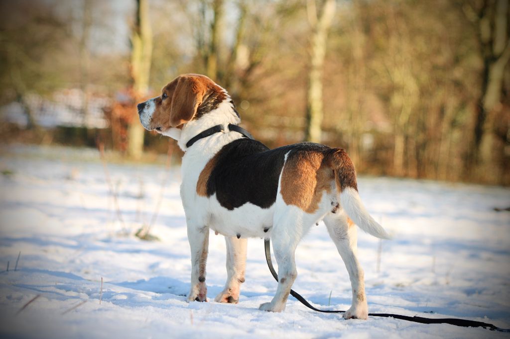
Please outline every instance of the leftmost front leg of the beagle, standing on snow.
[[209, 249], [209, 228], [188, 224], [191, 248], [191, 289], [188, 302], [207, 301], [206, 262]]

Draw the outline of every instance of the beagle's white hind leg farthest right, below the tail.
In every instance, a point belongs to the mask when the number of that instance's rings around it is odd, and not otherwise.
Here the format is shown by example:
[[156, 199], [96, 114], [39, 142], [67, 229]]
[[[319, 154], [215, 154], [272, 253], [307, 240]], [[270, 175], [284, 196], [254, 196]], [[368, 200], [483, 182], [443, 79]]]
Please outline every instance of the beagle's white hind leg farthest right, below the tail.
[[344, 313], [345, 319], [367, 319], [368, 306], [365, 295], [364, 272], [356, 254], [358, 252], [358, 228], [339, 210], [336, 214], [329, 213], [324, 217], [327, 232], [345, 263], [352, 287], [352, 305]]

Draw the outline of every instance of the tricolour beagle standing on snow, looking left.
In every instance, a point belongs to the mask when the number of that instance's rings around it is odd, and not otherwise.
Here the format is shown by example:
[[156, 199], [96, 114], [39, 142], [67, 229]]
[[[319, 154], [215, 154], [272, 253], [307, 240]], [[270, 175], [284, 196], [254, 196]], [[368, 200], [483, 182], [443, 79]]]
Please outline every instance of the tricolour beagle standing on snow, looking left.
[[213, 230], [225, 237], [227, 252], [225, 288], [214, 300], [238, 302], [247, 238], [270, 238], [279, 281], [271, 302], [259, 309], [281, 312], [297, 276], [297, 244], [312, 225], [324, 220], [352, 285], [352, 305], [344, 318], [367, 318], [354, 224], [378, 238], [389, 235], [363, 206], [345, 150], [312, 143], [268, 149], [238, 126], [234, 102], [204, 75], [177, 77], [160, 96], [138, 104], [138, 113], [143, 127], [176, 139], [185, 152], [181, 198], [191, 247], [188, 301], [207, 300], [206, 261]]

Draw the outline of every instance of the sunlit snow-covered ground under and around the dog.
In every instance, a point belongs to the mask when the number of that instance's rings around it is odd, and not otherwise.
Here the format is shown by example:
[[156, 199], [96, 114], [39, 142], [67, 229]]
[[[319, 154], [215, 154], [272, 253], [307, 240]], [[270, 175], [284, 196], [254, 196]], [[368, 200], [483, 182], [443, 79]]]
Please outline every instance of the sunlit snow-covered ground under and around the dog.
[[[239, 304], [215, 303], [226, 270], [224, 241], [214, 234], [207, 276], [211, 301], [187, 303], [191, 263], [179, 168], [170, 172], [151, 229], [160, 241], [143, 241], [134, 233], [150, 223], [167, 175], [164, 165], [108, 169], [124, 224], [97, 151], [2, 148], [2, 337], [508, 336], [392, 318], [347, 321], [316, 313], [292, 297], [283, 313], [259, 311], [276, 289], [260, 239], [248, 242]], [[359, 179], [359, 187], [368, 210], [394, 234], [381, 243], [377, 271], [379, 240], [359, 232], [370, 312], [510, 327], [510, 213], [493, 210], [510, 206], [509, 189], [367, 177]], [[349, 307], [347, 271], [323, 224], [300, 243], [296, 261], [294, 290], [316, 306]]]

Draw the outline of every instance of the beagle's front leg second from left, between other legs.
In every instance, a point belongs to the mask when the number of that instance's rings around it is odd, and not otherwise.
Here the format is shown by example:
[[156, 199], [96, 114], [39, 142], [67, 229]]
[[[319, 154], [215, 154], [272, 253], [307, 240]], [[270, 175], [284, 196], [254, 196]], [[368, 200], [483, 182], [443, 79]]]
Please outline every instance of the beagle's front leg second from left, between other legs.
[[214, 298], [216, 302], [237, 303], [240, 285], [244, 283], [247, 239], [225, 237], [227, 279], [223, 291]]

